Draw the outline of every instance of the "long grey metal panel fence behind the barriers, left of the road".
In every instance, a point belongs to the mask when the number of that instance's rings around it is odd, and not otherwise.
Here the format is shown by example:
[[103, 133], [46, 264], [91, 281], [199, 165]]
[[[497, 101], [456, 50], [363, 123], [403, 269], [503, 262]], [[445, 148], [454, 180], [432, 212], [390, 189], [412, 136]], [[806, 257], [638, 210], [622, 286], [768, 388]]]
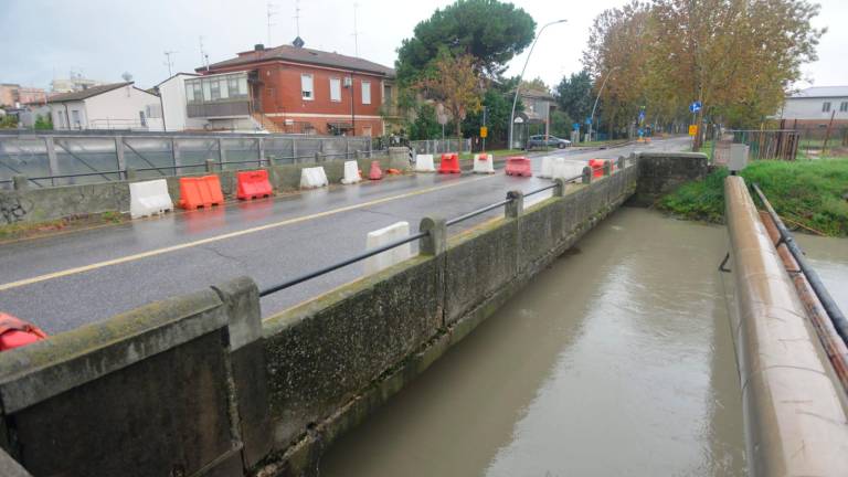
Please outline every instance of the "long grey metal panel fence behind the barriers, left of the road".
[[0, 134], [0, 189], [25, 176], [35, 187], [70, 186], [202, 171], [206, 160], [239, 170], [373, 152], [371, 138], [234, 134]]

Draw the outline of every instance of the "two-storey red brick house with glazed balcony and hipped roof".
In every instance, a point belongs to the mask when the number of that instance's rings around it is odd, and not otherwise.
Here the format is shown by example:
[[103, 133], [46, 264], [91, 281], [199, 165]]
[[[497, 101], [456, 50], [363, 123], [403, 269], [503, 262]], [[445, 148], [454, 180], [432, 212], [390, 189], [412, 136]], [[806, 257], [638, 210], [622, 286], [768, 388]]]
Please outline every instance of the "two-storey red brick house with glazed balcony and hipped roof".
[[[190, 117], [233, 116], [247, 108], [275, 132], [381, 136], [384, 113], [393, 109], [394, 70], [338, 53], [257, 44], [197, 72], [200, 77], [186, 81]], [[227, 73], [246, 74], [247, 97], [240, 97], [241, 105], [220, 99], [227, 86], [222, 88], [212, 78], [229, 77], [222, 75]], [[215, 84], [203, 84], [205, 77]], [[239, 81], [232, 80], [227, 92], [236, 91]]]

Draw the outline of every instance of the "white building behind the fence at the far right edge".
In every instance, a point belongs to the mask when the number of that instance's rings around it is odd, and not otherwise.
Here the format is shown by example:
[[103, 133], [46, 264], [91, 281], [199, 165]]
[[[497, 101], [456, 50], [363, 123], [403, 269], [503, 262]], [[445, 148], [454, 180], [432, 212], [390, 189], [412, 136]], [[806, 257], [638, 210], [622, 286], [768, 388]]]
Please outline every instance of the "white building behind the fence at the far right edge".
[[[814, 86], [786, 97], [780, 119], [786, 127], [827, 127], [834, 118], [834, 126], [848, 125], [848, 86]], [[791, 121], [791, 123], [789, 123]]]

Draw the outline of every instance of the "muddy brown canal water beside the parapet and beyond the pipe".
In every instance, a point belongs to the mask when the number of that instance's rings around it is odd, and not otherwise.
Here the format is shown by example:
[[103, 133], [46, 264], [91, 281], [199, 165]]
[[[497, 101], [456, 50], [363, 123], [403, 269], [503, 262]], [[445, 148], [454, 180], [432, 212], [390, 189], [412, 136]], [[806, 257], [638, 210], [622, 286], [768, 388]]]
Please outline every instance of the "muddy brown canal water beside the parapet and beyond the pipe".
[[[845, 304], [848, 241], [801, 243]], [[619, 210], [331, 446], [320, 475], [744, 475], [725, 252], [721, 226]]]

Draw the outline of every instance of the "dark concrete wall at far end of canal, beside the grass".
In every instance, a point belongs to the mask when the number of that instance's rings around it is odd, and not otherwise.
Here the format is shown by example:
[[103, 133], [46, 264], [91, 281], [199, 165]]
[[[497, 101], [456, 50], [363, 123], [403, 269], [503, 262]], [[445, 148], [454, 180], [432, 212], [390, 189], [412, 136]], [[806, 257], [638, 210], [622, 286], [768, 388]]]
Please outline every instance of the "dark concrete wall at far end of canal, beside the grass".
[[703, 180], [708, 172], [707, 155], [700, 152], [642, 152], [638, 155], [639, 180], [634, 200], [651, 205], [686, 182]]

